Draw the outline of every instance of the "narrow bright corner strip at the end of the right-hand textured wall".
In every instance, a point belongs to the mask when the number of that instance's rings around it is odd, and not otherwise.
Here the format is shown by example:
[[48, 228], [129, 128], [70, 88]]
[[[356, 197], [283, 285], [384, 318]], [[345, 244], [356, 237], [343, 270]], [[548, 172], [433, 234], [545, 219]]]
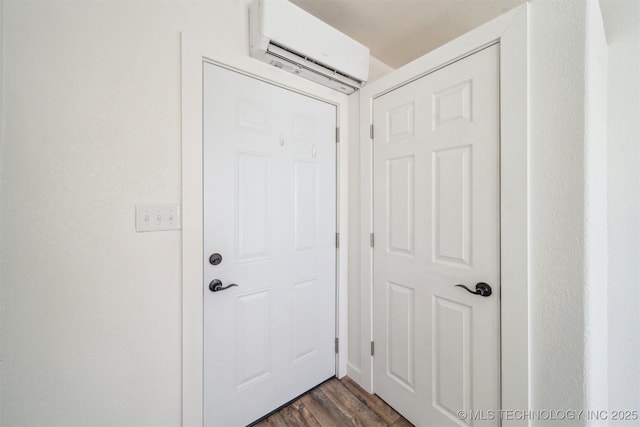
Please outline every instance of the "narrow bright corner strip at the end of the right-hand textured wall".
[[607, 44], [598, 2], [585, 31], [585, 380], [589, 409], [608, 408]]

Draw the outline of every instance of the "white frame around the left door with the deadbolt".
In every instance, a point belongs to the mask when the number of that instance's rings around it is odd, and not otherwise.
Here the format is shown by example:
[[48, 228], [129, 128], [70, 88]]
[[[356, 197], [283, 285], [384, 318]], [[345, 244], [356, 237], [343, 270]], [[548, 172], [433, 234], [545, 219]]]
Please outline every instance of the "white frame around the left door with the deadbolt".
[[[203, 249], [203, 65], [211, 63], [335, 105], [336, 152], [336, 337], [347, 340], [348, 279], [348, 97], [259, 62], [243, 52], [194, 34], [181, 34], [182, 84], [182, 425], [204, 422], [204, 249]], [[336, 357], [336, 375], [346, 374], [347, 352]]]

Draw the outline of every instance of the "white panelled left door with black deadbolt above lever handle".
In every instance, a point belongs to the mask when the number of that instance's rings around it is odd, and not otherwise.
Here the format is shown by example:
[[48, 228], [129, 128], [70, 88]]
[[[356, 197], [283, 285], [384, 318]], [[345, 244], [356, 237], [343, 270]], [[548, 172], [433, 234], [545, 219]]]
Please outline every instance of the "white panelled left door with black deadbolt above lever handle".
[[335, 134], [335, 106], [204, 65], [207, 426], [335, 375]]

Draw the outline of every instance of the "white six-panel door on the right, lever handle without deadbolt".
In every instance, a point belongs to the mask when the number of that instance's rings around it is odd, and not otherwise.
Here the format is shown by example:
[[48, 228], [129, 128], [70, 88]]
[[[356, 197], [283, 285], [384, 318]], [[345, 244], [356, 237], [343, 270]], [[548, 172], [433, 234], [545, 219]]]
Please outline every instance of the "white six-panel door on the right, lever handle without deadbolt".
[[[499, 424], [458, 414], [499, 408], [498, 61], [494, 45], [373, 104], [374, 389], [418, 426]], [[493, 293], [455, 286], [479, 282]]]

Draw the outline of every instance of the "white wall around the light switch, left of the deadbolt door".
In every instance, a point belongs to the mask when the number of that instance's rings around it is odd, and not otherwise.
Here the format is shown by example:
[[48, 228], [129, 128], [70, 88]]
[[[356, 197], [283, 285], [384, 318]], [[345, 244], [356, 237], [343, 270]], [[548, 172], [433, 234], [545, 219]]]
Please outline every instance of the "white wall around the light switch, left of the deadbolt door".
[[179, 425], [180, 31], [246, 51], [242, 1], [6, 1], [2, 425]]

